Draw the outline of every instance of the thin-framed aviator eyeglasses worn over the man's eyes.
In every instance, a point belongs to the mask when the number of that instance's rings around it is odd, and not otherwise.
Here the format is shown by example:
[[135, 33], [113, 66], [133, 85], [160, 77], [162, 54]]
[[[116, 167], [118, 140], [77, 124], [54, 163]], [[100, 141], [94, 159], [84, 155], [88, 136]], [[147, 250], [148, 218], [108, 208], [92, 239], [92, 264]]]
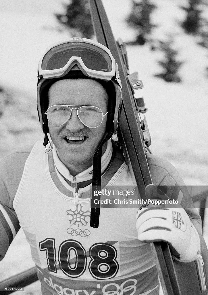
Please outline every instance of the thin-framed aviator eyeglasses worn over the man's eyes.
[[72, 109], [76, 109], [79, 120], [89, 128], [97, 128], [103, 122], [103, 117], [107, 115], [103, 114], [101, 109], [96, 106], [66, 106], [57, 104], [50, 106], [44, 113], [47, 115], [49, 123], [53, 126], [64, 125], [69, 119], [71, 119]]

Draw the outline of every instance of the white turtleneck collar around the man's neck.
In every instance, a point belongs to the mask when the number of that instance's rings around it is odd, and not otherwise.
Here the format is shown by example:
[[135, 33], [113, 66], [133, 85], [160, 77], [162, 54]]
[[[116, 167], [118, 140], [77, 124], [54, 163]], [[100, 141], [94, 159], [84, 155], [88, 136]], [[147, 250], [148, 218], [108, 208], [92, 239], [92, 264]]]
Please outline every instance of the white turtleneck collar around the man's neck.
[[[73, 175], [70, 174], [68, 168], [66, 168], [66, 166], [59, 159], [55, 146], [53, 146], [52, 152], [53, 152], [53, 158], [54, 158], [54, 165], [56, 168], [56, 172], [59, 174], [58, 175], [59, 178], [60, 176], [64, 176], [66, 179], [73, 182], [74, 181]], [[111, 143], [111, 140], [109, 139], [107, 142], [107, 149], [101, 158], [101, 173], [103, 173], [105, 169], [107, 168], [111, 160], [112, 153], [113, 153], [112, 143]], [[90, 179], [92, 179], [92, 165], [86, 170], [76, 175], [76, 182], [87, 181]]]

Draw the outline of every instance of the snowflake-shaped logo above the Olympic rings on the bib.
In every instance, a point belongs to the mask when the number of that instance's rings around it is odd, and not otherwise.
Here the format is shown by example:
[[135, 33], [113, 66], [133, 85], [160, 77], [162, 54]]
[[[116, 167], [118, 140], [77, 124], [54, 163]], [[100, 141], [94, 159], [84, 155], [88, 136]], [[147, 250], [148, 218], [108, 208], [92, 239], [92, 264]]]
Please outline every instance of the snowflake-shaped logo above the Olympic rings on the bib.
[[77, 204], [76, 210], [66, 210], [67, 215], [71, 216], [71, 219], [69, 219], [71, 224], [78, 224], [79, 225], [87, 225], [86, 217], [90, 217], [90, 211], [82, 211], [82, 205]]

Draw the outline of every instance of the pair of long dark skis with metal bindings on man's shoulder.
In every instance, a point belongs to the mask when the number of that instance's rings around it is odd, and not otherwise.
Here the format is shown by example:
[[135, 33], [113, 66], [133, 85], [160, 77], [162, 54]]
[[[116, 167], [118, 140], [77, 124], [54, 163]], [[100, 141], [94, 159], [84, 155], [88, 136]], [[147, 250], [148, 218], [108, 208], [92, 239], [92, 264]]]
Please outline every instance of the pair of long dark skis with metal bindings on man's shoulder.
[[[137, 73], [129, 75], [126, 45], [121, 38], [115, 41], [107, 14], [101, 0], [89, 0], [91, 17], [97, 41], [107, 46], [114, 56], [122, 82], [122, 111], [118, 126], [118, 138], [124, 158], [134, 173], [139, 193], [152, 183], [146, 158], [146, 147], [151, 143], [147, 122], [140, 112], [145, 112], [144, 102], [135, 99], [134, 90], [143, 87]], [[172, 256], [167, 243], [151, 243], [157, 271], [164, 295], [181, 295]]]

